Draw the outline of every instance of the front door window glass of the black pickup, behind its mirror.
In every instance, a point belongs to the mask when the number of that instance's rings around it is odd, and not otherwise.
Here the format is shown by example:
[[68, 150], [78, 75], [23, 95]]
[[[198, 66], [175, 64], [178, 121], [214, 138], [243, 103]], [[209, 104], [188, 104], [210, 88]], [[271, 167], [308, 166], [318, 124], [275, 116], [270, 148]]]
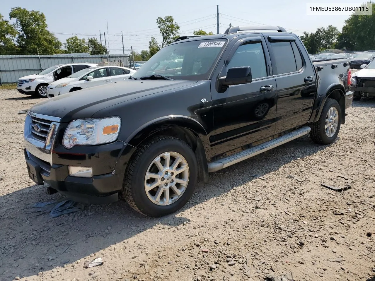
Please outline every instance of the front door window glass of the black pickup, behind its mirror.
[[250, 66], [252, 78], [267, 76], [266, 59], [262, 43], [247, 43], [238, 47], [229, 61], [227, 69], [238, 66]]

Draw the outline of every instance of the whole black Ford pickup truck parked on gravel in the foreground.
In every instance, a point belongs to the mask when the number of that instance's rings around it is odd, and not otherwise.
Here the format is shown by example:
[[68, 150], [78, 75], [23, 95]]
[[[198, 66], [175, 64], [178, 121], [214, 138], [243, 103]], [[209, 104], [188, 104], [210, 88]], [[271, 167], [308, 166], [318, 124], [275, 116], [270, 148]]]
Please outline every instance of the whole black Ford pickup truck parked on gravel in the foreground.
[[[160, 70], [170, 60], [182, 63]], [[350, 76], [347, 59], [313, 63], [282, 27], [179, 37], [129, 81], [30, 108], [28, 173], [50, 194], [86, 203], [122, 194], [144, 215], [166, 215], [210, 172], [309, 133], [335, 141], [353, 99]]]

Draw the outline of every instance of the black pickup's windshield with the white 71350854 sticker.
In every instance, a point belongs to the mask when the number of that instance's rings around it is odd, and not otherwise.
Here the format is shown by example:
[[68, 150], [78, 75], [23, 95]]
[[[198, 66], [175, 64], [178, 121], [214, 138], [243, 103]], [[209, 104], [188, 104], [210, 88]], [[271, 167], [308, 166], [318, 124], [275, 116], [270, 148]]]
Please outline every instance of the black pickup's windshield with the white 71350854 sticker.
[[133, 75], [163, 75], [174, 80], [206, 80], [226, 40], [196, 40], [165, 46]]

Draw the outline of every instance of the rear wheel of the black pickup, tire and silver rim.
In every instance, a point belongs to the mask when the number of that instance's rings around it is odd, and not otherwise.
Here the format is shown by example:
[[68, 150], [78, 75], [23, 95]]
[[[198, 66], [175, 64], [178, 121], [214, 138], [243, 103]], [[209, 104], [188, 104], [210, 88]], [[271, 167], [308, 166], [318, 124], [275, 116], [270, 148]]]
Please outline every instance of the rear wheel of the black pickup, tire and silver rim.
[[318, 144], [333, 143], [341, 127], [341, 108], [337, 100], [327, 99], [317, 122], [311, 126], [311, 139]]

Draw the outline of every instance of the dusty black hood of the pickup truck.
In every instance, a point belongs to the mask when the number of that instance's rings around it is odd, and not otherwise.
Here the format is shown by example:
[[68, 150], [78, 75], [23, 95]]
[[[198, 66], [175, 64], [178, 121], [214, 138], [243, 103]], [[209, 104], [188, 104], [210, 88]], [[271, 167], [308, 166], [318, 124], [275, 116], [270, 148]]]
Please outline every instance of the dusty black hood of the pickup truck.
[[[91, 118], [96, 112], [117, 103], [186, 87], [196, 82], [178, 80], [121, 81], [52, 97], [37, 103], [29, 111], [59, 117], [62, 123], [70, 122], [78, 118]], [[108, 112], [109, 116], [111, 116], [110, 112]]]

